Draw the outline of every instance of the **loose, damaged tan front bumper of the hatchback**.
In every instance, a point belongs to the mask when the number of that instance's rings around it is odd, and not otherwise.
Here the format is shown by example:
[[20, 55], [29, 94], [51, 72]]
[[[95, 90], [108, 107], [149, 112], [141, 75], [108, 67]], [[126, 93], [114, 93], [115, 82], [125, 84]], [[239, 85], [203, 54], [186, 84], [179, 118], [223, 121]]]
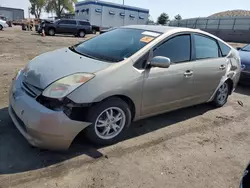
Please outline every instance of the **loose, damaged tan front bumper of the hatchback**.
[[63, 111], [51, 110], [28, 95], [22, 75], [12, 82], [9, 114], [28, 142], [36, 147], [67, 150], [74, 138], [91, 123], [71, 120]]

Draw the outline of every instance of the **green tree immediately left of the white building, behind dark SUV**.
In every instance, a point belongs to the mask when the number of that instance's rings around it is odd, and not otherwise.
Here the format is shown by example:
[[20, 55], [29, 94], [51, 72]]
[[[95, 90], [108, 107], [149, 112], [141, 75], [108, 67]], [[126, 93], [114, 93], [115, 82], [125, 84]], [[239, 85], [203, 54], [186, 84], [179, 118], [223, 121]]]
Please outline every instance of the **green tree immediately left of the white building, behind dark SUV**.
[[55, 12], [58, 18], [64, 11], [74, 12], [74, 3], [77, 0], [47, 0], [46, 12]]

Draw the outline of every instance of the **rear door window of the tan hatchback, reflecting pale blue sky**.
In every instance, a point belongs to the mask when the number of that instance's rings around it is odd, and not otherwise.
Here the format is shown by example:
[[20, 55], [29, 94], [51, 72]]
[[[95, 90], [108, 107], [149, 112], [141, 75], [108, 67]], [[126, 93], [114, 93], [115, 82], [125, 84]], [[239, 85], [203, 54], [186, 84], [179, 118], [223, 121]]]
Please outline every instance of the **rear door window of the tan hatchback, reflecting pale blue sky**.
[[196, 59], [208, 59], [219, 57], [219, 47], [217, 42], [203, 35], [194, 35], [194, 48]]

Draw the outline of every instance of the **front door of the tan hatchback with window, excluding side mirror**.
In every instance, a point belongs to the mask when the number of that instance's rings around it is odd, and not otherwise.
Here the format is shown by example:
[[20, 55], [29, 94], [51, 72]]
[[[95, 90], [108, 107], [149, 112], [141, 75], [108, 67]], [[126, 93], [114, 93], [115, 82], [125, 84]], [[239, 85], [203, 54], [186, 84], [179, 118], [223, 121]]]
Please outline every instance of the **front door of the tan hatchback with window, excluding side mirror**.
[[174, 36], [154, 49], [154, 57], [168, 57], [171, 65], [166, 69], [152, 67], [145, 71], [142, 116], [195, 103], [191, 54], [189, 34]]

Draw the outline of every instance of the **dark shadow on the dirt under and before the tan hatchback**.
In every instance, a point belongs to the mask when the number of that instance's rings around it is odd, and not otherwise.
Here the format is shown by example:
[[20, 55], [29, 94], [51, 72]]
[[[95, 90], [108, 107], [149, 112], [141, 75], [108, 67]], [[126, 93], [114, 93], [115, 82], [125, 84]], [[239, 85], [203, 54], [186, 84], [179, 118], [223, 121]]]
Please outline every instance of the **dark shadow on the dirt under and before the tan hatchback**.
[[[202, 115], [211, 109], [209, 104], [202, 104], [132, 123], [122, 141]], [[104, 156], [98, 149], [100, 147], [89, 143], [82, 134], [76, 137], [66, 152], [34, 148], [16, 129], [8, 115], [8, 109], [0, 109], [0, 175], [41, 169], [80, 155], [98, 159]]]

